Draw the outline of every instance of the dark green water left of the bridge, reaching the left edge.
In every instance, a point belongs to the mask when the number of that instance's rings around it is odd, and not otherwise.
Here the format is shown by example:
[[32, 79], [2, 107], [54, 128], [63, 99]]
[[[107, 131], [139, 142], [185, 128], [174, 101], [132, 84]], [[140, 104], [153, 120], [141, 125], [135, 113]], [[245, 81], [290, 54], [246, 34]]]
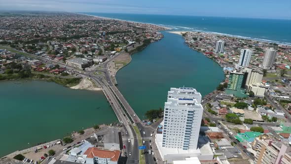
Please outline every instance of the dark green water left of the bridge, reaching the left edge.
[[53, 82], [0, 82], [0, 104], [0, 157], [117, 120], [102, 91], [75, 90]]

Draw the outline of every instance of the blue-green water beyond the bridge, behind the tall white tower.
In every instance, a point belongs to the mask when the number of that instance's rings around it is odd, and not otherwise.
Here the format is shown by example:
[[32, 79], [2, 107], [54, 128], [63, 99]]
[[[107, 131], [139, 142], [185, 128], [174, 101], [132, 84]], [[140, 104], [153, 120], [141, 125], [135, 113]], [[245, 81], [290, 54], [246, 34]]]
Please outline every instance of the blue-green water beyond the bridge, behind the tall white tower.
[[170, 87], [194, 87], [205, 95], [224, 79], [222, 68], [190, 49], [182, 36], [163, 34], [116, 74], [118, 88], [141, 119], [147, 110], [163, 108]]

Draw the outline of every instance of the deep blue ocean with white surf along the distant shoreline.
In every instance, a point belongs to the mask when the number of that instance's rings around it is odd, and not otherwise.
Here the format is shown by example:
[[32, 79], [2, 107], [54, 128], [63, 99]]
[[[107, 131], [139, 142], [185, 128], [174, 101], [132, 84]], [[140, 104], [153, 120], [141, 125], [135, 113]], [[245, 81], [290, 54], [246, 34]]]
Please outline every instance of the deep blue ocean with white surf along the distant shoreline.
[[85, 14], [152, 23], [177, 31], [204, 31], [291, 44], [291, 20], [92, 12]]

